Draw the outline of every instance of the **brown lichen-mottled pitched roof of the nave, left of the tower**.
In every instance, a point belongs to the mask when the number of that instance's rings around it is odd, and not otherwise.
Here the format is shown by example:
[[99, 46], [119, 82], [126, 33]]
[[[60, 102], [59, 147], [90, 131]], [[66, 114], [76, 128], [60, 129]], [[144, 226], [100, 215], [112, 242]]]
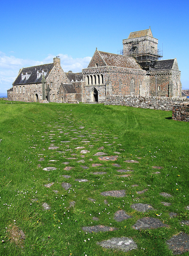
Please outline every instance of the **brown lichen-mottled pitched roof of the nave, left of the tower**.
[[142, 69], [133, 57], [98, 51], [107, 66]]

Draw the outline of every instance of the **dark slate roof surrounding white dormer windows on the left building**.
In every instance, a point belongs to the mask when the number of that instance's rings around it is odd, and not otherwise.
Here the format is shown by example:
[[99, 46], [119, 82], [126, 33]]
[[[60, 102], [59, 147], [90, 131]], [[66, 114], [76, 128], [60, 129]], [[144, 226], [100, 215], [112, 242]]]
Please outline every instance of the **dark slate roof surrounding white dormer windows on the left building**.
[[[17, 85], [17, 84], [28, 84], [28, 83], [42, 83], [42, 75], [37, 78], [37, 71], [38, 70], [47, 70], [47, 74], [45, 76], [45, 78], [48, 77], [51, 69], [53, 68], [53, 63], [50, 64], [43, 64], [43, 65], [38, 65], [38, 66], [33, 66], [33, 67], [28, 67], [28, 68], [22, 68], [22, 70], [20, 71], [19, 75], [16, 77], [16, 80], [14, 81], [13, 85]], [[26, 80], [26, 77], [24, 78], [24, 80], [22, 80], [22, 73], [26, 73], [26, 72], [31, 72], [30, 77]]]

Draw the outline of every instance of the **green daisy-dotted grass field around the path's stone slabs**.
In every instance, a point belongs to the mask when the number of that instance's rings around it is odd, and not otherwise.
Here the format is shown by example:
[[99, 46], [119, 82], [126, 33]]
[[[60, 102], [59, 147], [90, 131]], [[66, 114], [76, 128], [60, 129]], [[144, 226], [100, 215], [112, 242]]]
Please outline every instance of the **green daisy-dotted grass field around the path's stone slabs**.
[[[6, 104], [0, 100], [0, 255], [173, 255], [166, 240], [180, 231], [189, 234], [189, 226], [182, 225], [189, 220], [185, 209], [189, 205], [189, 124], [173, 121], [171, 116], [172, 112], [125, 106]], [[49, 150], [51, 144], [59, 149]], [[89, 152], [76, 149], [81, 146]], [[97, 152], [118, 157], [104, 161], [94, 156]], [[124, 162], [128, 159], [139, 163]], [[46, 171], [45, 167], [57, 169]], [[121, 173], [118, 169], [134, 171]], [[156, 171], [160, 173], [153, 174]], [[129, 176], [121, 177], [124, 174]], [[51, 187], [44, 186], [50, 183]], [[71, 188], [65, 190], [62, 183]], [[132, 187], [135, 184], [138, 186]], [[125, 190], [125, 196], [100, 194], [112, 190]], [[164, 198], [161, 192], [172, 197]], [[44, 210], [43, 203], [51, 209]], [[150, 204], [155, 210], [135, 211], [131, 208], [134, 203]], [[132, 218], [117, 222], [114, 214], [118, 210]], [[170, 218], [170, 212], [176, 217]], [[158, 218], [167, 227], [132, 228], [143, 217]], [[95, 225], [117, 229], [82, 230]], [[130, 237], [138, 248], [123, 252], [97, 245], [112, 237]]]

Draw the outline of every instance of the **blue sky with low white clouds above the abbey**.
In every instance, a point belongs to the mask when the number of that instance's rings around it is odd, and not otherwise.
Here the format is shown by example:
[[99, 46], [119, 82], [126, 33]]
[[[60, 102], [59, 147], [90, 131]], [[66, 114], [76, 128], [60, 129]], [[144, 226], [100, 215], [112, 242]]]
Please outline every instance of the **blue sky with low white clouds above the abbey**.
[[1, 1], [0, 92], [22, 67], [52, 63], [81, 72], [96, 47], [118, 53], [130, 32], [151, 27], [163, 59], [177, 58], [182, 89], [189, 89], [188, 1]]

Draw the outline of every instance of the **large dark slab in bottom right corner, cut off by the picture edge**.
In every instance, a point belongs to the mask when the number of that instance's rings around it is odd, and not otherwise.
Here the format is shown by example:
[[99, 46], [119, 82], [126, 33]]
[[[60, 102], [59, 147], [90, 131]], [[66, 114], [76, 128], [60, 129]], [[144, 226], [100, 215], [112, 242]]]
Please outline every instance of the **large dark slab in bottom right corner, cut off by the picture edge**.
[[174, 235], [166, 243], [173, 255], [181, 255], [189, 251], [189, 235], [184, 232]]

